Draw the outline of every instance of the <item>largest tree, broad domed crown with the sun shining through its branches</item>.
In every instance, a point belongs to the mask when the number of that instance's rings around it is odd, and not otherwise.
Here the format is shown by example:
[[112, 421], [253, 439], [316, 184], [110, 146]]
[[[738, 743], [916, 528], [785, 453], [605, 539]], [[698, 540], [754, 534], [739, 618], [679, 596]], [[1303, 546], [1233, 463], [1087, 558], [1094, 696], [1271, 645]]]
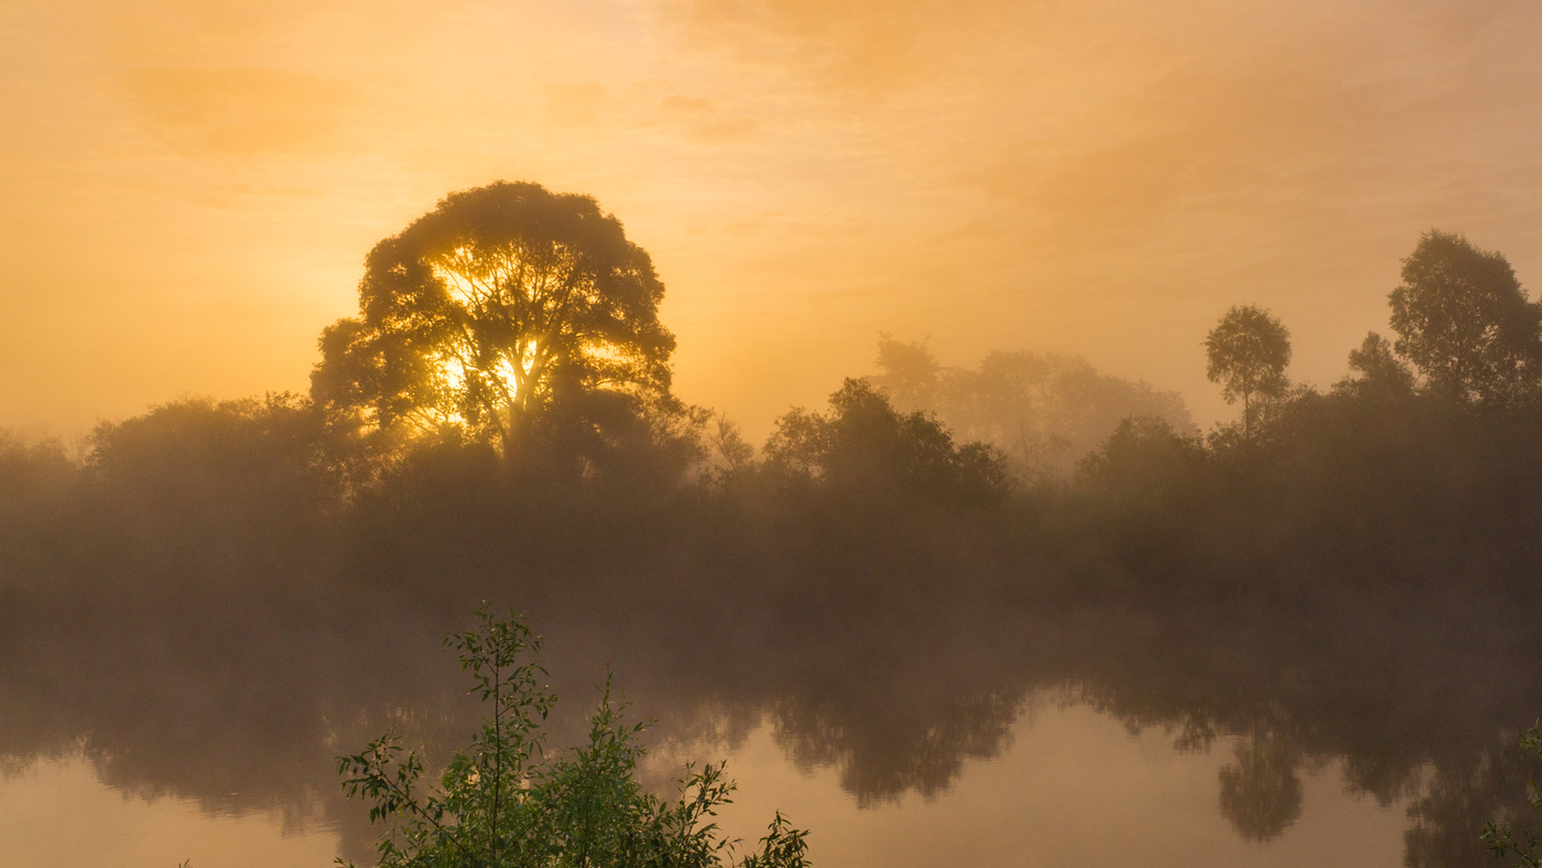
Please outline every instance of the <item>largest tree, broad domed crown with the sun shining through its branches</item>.
[[452, 193], [375, 245], [359, 316], [321, 336], [311, 395], [332, 418], [458, 430], [507, 450], [672, 402], [663, 284], [588, 196], [497, 182]]

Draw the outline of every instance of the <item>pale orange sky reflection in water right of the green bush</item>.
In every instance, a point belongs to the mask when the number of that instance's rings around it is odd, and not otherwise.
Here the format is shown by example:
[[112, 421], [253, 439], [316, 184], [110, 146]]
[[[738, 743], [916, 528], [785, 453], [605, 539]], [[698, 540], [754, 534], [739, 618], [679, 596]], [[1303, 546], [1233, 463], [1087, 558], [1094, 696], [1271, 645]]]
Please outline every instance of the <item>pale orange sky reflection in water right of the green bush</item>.
[[1403, 857], [1402, 805], [1345, 792], [1337, 765], [1301, 771], [1300, 819], [1268, 845], [1244, 842], [1217, 811], [1218, 769], [1232, 740], [1209, 752], [1177, 752], [1172, 737], [1087, 706], [1039, 708], [1013, 725], [995, 760], [970, 760], [944, 794], [905, 794], [859, 809], [830, 768], [799, 774], [766, 728], [728, 754], [742, 789], [723, 825], [759, 837], [760, 817], [782, 806], [813, 829], [823, 865], [1357, 865]]

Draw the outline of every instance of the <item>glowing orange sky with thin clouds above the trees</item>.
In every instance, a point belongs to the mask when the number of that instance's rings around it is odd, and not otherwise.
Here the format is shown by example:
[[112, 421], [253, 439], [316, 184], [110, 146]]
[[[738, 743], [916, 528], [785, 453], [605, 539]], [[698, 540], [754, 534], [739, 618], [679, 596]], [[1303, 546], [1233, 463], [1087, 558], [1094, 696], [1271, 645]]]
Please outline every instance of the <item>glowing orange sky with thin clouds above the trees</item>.
[[[304, 390], [453, 190], [592, 194], [752, 436], [879, 333], [1234, 412], [1232, 304], [1345, 372], [1422, 231], [1542, 285], [1534, 0], [5, 0], [0, 426]], [[1536, 293], [1533, 293], [1533, 298]]]

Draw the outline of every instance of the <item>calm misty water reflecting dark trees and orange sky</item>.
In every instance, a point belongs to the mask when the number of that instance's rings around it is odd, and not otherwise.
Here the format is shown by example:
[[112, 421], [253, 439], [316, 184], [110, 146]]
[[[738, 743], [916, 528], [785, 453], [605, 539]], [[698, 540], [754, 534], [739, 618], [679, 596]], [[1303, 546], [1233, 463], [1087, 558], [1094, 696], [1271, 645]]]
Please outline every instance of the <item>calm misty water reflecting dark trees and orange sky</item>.
[[[1479, 621], [1454, 601], [1366, 611], [819, 607], [708, 637], [700, 612], [625, 604], [534, 620], [566, 711], [552, 743], [578, 740], [611, 663], [657, 720], [651, 780], [726, 759], [723, 825], [756, 839], [782, 808], [820, 865], [1491, 865], [1482, 822], [1528, 814], [1534, 634], [1456, 634]], [[373, 831], [333, 757], [387, 725], [438, 755], [464, 742], [476, 708], [435, 641], [453, 626], [296, 611], [12, 632], [5, 865], [364, 863]]]

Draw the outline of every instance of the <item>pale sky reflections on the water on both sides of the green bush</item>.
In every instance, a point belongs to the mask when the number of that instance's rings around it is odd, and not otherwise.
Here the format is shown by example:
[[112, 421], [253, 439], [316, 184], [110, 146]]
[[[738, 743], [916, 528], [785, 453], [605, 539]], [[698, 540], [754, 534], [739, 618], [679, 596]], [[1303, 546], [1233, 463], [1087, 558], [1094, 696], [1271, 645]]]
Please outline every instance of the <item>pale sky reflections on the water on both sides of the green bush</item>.
[[[837, 769], [796, 768], [763, 725], [726, 752], [672, 745], [651, 765], [726, 759], [740, 789], [723, 826], [752, 840], [780, 808], [813, 829], [811, 854], [825, 866], [1402, 863], [1403, 805], [1346, 794], [1338, 763], [1303, 765], [1300, 817], [1266, 845], [1243, 840], [1217, 809], [1218, 771], [1234, 748], [1235, 738], [1220, 738], [1207, 752], [1178, 752], [1161, 728], [1132, 737], [1087, 706], [1035, 705], [998, 759], [967, 760], [933, 799], [907, 792], [876, 808], [859, 808]], [[285, 834], [261, 811], [219, 816], [179, 797], [123, 796], [88, 762], [66, 759], [0, 782], [0, 848], [12, 868], [170, 868], [183, 859], [267, 868], [327, 865], [338, 837], [325, 828]]]

